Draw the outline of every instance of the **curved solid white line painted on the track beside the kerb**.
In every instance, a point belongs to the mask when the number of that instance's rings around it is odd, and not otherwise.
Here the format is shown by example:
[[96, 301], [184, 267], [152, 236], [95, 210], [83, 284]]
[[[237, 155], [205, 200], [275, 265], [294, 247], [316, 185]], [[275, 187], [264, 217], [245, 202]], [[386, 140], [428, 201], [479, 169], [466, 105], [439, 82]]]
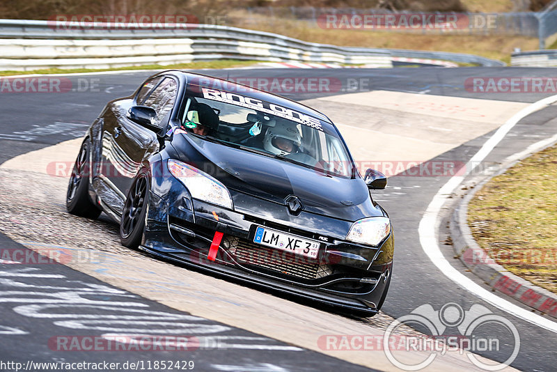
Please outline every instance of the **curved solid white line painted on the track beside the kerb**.
[[[472, 279], [469, 279], [464, 274], [453, 268], [450, 263], [445, 259], [443, 254], [441, 253], [441, 249], [439, 248], [439, 244], [437, 243], [437, 235], [436, 232], [439, 229], [439, 224], [441, 223], [438, 220], [439, 211], [441, 207], [444, 205], [446, 199], [450, 194], [462, 183], [464, 177], [473, 171], [473, 168], [477, 166], [481, 161], [491, 153], [491, 151], [501, 142], [501, 140], [505, 137], [506, 134], [514, 127], [522, 118], [532, 114], [535, 111], [542, 109], [543, 107], [557, 102], [557, 95], [551, 95], [551, 97], [544, 98], [543, 100], [539, 100], [538, 102], [534, 102], [528, 107], [521, 109], [517, 114], [512, 116], [504, 125], [499, 127], [492, 137], [490, 137], [485, 144], [483, 144], [482, 148], [478, 150], [476, 155], [473, 155], [471, 160], [466, 164], [466, 173], [464, 176], [453, 176], [450, 180], [447, 181], [441, 189], [435, 194], [429, 206], [427, 206], [427, 210], [420, 221], [420, 225], [418, 226], [418, 233], [420, 235], [420, 243], [422, 246], [423, 251], [425, 254], [430, 258], [432, 263], [441, 270], [443, 274], [448, 277], [448, 279], [454, 281], [456, 284], [461, 286], [462, 288], [468, 290], [469, 292], [473, 293], [474, 295], [482, 298], [489, 304], [492, 304], [494, 307], [498, 307], [499, 309], [510, 313], [517, 318], [521, 318], [522, 320], [526, 320], [529, 323], [534, 325], [538, 325], [546, 330], [556, 332], [557, 333], [557, 323], [539, 316], [538, 314], [533, 313], [530, 310], [523, 309], [518, 307], [512, 302], [504, 300], [503, 298], [495, 295], [491, 291], [483, 288], [482, 286], [476, 284]], [[540, 148], [542, 144], [546, 144], [547, 141], [540, 141]], [[532, 146], [528, 147], [528, 149], [533, 150]], [[524, 153], [524, 151], [522, 152]], [[522, 154], [521, 153], [521, 154]]]

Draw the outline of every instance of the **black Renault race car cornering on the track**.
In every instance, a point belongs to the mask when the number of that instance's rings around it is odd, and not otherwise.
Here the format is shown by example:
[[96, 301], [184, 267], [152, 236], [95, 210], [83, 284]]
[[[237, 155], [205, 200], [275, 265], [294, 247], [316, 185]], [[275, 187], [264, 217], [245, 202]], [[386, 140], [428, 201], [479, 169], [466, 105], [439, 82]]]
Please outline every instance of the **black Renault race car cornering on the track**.
[[109, 102], [86, 133], [67, 208], [120, 224], [126, 247], [374, 314], [393, 231], [327, 116], [182, 71]]

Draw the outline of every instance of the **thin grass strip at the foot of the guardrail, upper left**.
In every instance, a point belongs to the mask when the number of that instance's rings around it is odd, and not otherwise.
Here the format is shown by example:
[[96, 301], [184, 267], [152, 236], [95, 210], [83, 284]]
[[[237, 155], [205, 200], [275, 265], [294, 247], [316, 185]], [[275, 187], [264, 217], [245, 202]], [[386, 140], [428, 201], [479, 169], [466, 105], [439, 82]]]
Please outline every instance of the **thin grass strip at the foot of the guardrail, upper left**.
[[260, 61], [237, 61], [233, 59], [222, 59], [219, 61], [198, 61], [191, 63], [179, 63], [175, 65], [141, 65], [120, 68], [45, 68], [31, 71], [0, 71], [0, 76], [30, 75], [30, 74], [79, 74], [83, 72], [102, 72], [102, 71], [127, 71], [127, 70], [197, 70], [200, 68], [236, 68], [260, 63]]

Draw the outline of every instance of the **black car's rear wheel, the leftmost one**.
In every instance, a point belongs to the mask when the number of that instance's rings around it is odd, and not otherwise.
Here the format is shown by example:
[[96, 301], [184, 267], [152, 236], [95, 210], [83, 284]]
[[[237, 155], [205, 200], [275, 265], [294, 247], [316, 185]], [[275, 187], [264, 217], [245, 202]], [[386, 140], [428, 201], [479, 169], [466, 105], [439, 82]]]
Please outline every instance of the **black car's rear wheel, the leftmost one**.
[[72, 215], [97, 218], [101, 210], [89, 199], [89, 144], [85, 140], [81, 144], [79, 154], [72, 169], [68, 193], [65, 197], [65, 208]]

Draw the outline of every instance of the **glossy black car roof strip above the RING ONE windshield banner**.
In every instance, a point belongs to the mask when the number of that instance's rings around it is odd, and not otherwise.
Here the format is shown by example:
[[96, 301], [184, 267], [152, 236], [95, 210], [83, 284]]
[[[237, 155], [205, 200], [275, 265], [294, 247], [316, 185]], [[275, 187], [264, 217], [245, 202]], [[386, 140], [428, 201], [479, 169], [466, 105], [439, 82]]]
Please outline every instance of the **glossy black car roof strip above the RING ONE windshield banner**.
[[227, 83], [226, 85], [228, 86], [240, 87], [237, 89], [237, 91], [233, 93], [241, 92], [242, 95], [246, 97], [267, 101], [273, 104], [278, 104], [283, 107], [288, 107], [289, 109], [293, 109], [295, 111], [301, 112], [302, 114], [306, 114], [309, 116], [313, 116], [314, 118], [318, 118], [321, 121], [324, 121], [324, 123], [331, 125], [331, 127], [334, 127], [334, 124], [332, 123], [331, 119], [329, 119], [325, 114], [322, 114], [320, 111], [312, 109], [311, 107], [308, 107], [305, 104], [301, 104], [299, 102], [289, 100], [288, 98], [281, 97], [280, 95], [275, 95], [269, 92], [260, 91], [259, 89], [253, 88], [251, 86], [239, 84], [237, 82], [231, 82], [230, 80], [219, 79], [217, 77], [212, 77], [208, 75], [197, 74], [194, 72], [188, 72], [182, 70], [168, 70], [168, 71], [160, 72], [160, 74], [157, 75], [168, 75], [168, 74], [175, 75], [175, 77], [178, 77], [178, 79], [182, 80], [183, 82], [189, 82], [191, 81], [192, 78], [195, 77], [202, 77], [204, 79], [204, 83], [206, 83], [208, 86], [214, 86], [216, 89], [218, 87], [220, 91], [230, 91], [230, 88], [228, 89], [223, 88], [223, 84], [221, 84], [221, 82], [226, 82]]

